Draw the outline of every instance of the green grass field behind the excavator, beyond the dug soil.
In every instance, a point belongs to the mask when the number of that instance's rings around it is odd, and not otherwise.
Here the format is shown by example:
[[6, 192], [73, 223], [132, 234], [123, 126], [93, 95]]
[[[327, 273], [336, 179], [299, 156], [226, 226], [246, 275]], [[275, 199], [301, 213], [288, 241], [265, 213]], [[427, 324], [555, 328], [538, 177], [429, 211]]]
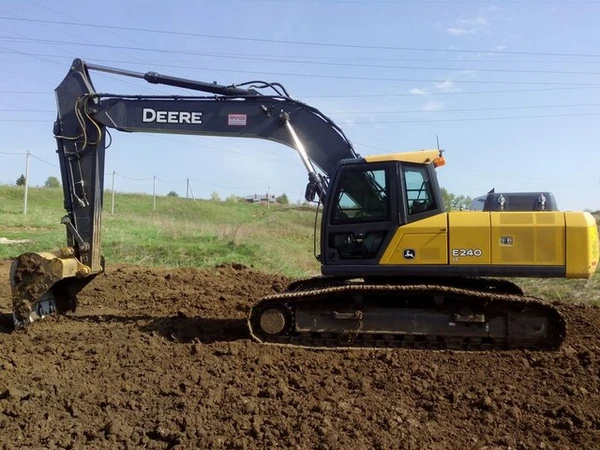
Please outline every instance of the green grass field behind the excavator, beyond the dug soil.
[[[30, 188], [26, 215], [23, 193], [22, 187], [0, 186], [0, 238], [29, 241], [0, 245], [0, 259], [65, 245], [62, 189]], [[319, 273], [312, 208], [157, 197], [154, 209], [150, 195], [117, 193], [110, 214], [110, 202], [107, 194], [102, 241], [109, 264], [213, 267], [237, 262], [290, 277]], [[598, 274], [589, 280], [515, 281], [547, 299], [600, 305]]]

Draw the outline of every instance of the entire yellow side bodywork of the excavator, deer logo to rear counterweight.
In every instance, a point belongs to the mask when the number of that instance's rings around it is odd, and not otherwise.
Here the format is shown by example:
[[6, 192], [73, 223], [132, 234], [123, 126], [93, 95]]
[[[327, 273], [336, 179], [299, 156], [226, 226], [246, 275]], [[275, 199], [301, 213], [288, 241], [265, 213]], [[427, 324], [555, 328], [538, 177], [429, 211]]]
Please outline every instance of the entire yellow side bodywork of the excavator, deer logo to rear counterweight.
[[598, 266], [598, 239], [584, 212], [456, 211], [398, 228], [379, 263], [564, 267], [567, 278], [587, 278]]

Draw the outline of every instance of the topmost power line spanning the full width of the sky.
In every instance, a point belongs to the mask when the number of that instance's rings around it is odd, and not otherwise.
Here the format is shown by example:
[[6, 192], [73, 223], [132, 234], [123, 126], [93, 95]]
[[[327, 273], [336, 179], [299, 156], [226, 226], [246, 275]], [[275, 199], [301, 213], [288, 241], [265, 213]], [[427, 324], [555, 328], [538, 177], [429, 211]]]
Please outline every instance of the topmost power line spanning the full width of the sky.
[[[171, 31], [171, 30], [157, 30], [151, 28], [137, 28], [137, 27], [125, 27], [117, 25], [103, 25], [98, 23], [84, 23], [84, 22], [69, 22], [63, 20], [45, 20], [45, 19], [30, 19], [30, 18], [18, 18], [18, 17], [7, 17], [0, 16], [0, 20], [11, 20], [19, 22], [30, 22], [30, 23], [46, 23], [55, 25], [67, 25], [67, 26], [79, 26], [79, 27], [90, 27], [94, 29], [105, 28], [111, 30], [123, 30], [123, 31], [135, 31], [142, 33], [155, 33], [162, 35], [172, 36], [187, 36], [187, 37], [201, 37], [208, 39], [224, 39], [244, 42], [263, 42], [271, 44], [288, 44], [288, 45], [305, 45], [313, 47], [330, 47], [330, 48], [356, 48], [365, 50], [401, 50], [401, 51], [418, 51], [418, 52], [439, 52], [439, 53], [489, 53], [489, 50], [458, 50], [458, 49], [440, 49], [440, 48], [427, 48], [427, 47], [395, 47], [386, 45], [364, 45], [364, 44], [338, 44], [328, 42], [311, 42], [311, 41], [294, 41], [285, 39], [266, 39], [266, 38], [250, 38], [240, 36], [228, 36], [218, 34], [204, 34], [204, 33], [190, 33], [184, 31]], [[524, 51], [510, 51], [510, 50], [497, 50], [497, 54], [502, 55], [535, 55], [535, 56], [564, 56], [564, 57], [588, 57], [588, 58], [600, 58], [600, 54], [596, 53], [557, 53], [557, 52], [524, 52]]]

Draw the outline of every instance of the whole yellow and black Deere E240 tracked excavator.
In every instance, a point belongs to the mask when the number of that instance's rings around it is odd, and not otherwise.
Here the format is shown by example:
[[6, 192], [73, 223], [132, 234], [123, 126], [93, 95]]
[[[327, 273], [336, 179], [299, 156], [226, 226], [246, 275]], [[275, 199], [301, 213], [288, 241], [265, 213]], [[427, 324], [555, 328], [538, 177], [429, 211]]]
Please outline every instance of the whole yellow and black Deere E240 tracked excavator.
[[[95, 91], [100, 71], [201, 95]], [[219, 85], [75, 59], [55, 90], [64, 248], [18, 256], [10, 271], [15, 328], [74, 311], [104, 272], [101, 219], [108, 129], [258, 138], [294, 149], [317, 202], [322, 275], [257, 299], [250, 336], [310, 348], [557, 349], [559, 310], [507, 277], [588, 278], [598, 265], [593, 216], [565, 211], [444, 210], [442, 151], [362, 157], [331, 119], [280, 83]], [[318, 254], [317, 254], [318, 253]]]

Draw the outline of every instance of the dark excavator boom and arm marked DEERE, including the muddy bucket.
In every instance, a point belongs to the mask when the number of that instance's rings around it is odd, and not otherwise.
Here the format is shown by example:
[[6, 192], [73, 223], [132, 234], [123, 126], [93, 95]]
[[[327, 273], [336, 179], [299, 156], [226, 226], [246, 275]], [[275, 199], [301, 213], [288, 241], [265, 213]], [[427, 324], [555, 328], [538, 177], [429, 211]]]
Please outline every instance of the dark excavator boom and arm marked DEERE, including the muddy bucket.
[[[212, 94], [130, 96], [97, 93], [90, 71], [140, 78]], [[314, 107], [292, 99], [278, 83], [222, 86], [154, 72], [138, 73], [74, 60], [56, 88], [54, 125], [67, 246], [25, 253], [11, 267], [16, 328], [55, 311], [74, 310], [77, 293], [104, 270], [101, 217], [106, 128], [125, 132], [266, 139], [298, 152], [308, 172], [306, 197], [323, 200], [328, 178], [343, 159], [358, 155], [342, 130]], [[273, 95], [260, 91], [269, 89]]]

